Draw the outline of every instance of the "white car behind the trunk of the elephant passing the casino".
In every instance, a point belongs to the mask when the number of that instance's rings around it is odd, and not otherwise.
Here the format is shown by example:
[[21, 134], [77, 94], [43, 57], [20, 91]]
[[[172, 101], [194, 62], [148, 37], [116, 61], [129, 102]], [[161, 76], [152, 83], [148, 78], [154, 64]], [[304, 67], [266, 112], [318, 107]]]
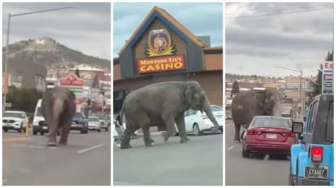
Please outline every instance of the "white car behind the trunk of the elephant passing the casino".
[[[223, 108], [211, 105], [211, 111], [218, 122], [220, 131], [223, 132]], [[184, 121], [186, 122], [186, 132], [192, 132], [196, 136], [203, 134], [204, 131], [211, 131], [215, 127], [206, 113], [202, 114], [199, 110], [189, 109], [184, 112]]]

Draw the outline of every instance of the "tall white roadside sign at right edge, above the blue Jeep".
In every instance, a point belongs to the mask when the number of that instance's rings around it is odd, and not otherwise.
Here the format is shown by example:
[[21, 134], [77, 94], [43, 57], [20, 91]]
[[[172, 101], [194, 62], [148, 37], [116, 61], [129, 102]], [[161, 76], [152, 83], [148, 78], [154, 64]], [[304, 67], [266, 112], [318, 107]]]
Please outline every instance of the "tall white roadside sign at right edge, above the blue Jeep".
[[324, 61], [322, 67], [322, 93], [334, 93], [334, 64]]

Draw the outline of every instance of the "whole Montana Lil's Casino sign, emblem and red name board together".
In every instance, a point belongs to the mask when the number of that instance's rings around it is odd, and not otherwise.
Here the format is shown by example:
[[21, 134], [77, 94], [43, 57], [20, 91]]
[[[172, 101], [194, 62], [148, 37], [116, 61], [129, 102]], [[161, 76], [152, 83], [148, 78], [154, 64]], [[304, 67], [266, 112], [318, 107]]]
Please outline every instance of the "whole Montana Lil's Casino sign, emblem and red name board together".
[[166, 29], [151, 30], [147, 38], [147, 57], [138, 59], [140, 74], [186, 69], [184, 55], [173, 55], [174, 45]]

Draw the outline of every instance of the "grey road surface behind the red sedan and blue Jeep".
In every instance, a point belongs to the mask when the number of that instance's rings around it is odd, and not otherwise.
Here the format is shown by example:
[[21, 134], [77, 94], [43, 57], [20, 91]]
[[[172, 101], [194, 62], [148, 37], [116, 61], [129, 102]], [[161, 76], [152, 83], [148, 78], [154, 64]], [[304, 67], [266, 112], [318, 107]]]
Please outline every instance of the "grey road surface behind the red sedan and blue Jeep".
[[286, 156], [251, 155], [242, 157], [242, 143], [233, 143], [232, 120], [225, 127], [226, 185], [288, 185], [289, 160]]

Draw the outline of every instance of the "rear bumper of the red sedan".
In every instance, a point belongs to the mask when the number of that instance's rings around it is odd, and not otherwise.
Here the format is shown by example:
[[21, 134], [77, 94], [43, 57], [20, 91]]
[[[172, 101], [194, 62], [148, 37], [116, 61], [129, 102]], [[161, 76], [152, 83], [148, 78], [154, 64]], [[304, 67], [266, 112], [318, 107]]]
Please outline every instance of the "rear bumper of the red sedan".
[[257, 153], [291, 153], [291, 146], [279, 144], [245, 143], [245, 149]]

